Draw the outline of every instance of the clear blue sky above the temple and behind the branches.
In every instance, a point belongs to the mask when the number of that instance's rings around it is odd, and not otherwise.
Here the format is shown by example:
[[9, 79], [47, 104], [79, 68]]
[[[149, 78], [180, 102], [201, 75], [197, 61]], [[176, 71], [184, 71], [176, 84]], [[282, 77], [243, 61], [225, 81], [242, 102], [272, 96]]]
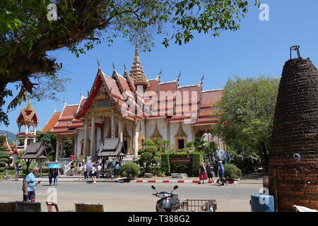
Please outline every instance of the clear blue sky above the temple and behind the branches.
[[[223, 32], [220, 37], [196, 35], [188, 44], [179, 46], [170, 44], [165, 48], [162, 37], [158, 37], [152, 52], [141, 52], [141, 64], [148, 78], [158, 76], [163, 69], [162, 81], [172, 81], [181, 71], [180, 85], [199, 83], [204, 73], [204, 90], [222, 88], [229, 76], [257, 77], [259, 75], [281, 77], [283, 64], [289, 59], [289, 48], [300, 45], [303, 58], [310, 57], [318, 66], [318, 1], [317, 0], [262, 0], [269, 5], [269, 21], [259, 20], [258, 8], [251, 8], [242, 20], [237, 32]], [[112, 75], [112, 62], [117, 72], [124, 73], [130, 69], [134, 46], [126, 40], [117, 39], [112, 47], [100, 44], [87, 54], [76, 58], [66, 49], [51, 53], [58, 62], [63, 63], [62, 73], [72, 79], [66, 85], [66, 91], [59, 93], [59, 101], [33, 100], [40, 124], [45, 126], [53, 113], [53, 107], [61, 111], [64, 102], [78, 104], [80, 93], [87, 96], [97, 73], [99, 57], [102, 71]], [[295, 56], [295, 55], [294, 55]], [[14, 84], [9, 85], [15, 93]], [[8, 114], [10, 125], [0, 125], [1, 130], [18, 132], [16, 119], [23, 103]]]

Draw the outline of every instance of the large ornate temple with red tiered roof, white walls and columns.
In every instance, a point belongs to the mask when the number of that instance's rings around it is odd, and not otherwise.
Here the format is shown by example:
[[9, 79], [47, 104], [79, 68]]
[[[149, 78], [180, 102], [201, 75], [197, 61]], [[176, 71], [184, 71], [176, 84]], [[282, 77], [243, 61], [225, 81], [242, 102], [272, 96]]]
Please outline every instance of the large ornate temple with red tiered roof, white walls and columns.
[[[64, 103], [44, 127], [57, 134], [56, 159], [64, 157], [66, 138], [73, 140], [76, 160], [86, 160], [111, 153], [107, 151], [110, 146], [117, 155], [138, 157], [141, 143], [155, 138], [170, 141], [168, 148], [179, 150], [210, 133], [217, 122], [212, 105], [220, 99], [222, 89], [203, 90], [203, 76], [197, 84], [186, 86], [179, 85], [181, 73], [173, 81], [163, 82], [161, 77], [160, 72], [156, 78], [147, 78], [138, 45], [131, 70], [125, 68], [123, 75], [114, 68], [107, 76], [98, 64], [88, 96], [81, 95], [77, 105]], [[226, 150], [222, 139], [213, 141]]]

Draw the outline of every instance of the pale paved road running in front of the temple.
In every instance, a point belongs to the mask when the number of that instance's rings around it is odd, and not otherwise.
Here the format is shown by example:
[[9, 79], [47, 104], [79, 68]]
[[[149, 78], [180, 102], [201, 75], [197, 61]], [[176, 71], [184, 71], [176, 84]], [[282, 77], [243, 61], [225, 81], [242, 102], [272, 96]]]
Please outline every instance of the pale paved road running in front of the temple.
[[[21, 182], [0, 182], [0, 201], [20, 201]], [[42, 203], [42, 211], [47, 211], [45, 201], [47, 189], [57, 189], [57, 203], [61, 211], [74, 211], [73, 203], [103, 203], [106, 212], [146, 212], [155, 210], [158, 200], [152, 196], [154, 185], [158, 191], [171, 191], [176, 184], [132, 184], [100, 182], [60, 182], [58, 186], [48, 186], [43, 182], [37, 186], [37, 201]], [[177, 184], [181, 201], [187, 198], [216, 199], [218, 211], [250, 212], [251, 194], [258, 193], [261, 184], [230, 184], [228, 186], [208, 184]]]

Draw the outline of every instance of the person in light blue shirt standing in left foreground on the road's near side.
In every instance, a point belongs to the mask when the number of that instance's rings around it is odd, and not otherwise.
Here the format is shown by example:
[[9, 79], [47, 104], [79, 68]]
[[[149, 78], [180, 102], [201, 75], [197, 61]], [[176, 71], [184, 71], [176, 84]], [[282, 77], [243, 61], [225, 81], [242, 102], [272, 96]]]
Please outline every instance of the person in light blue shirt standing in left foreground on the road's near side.
[[39, 171], [39, 168], [34, 167], [30, 174], [23, 180], [23, 201], [35, 202], [35, 186], [40, 184], [40, 182], [37, 182], [35, 176]]

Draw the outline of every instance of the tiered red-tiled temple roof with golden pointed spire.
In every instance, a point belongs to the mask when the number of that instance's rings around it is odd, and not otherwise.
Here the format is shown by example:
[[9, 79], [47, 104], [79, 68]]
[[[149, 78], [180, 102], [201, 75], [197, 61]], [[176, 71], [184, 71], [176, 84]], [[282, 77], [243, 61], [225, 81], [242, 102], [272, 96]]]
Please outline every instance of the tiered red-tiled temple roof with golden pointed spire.
[[[83, 117], [90, 107], [96, 107], [95, 97], [102, 94], [109, 97], [110, 104], [117, 112], [131, 119], [164, 118], [165, 121], [181, 121], [191, 119], [189, 124], [213, 124], [218, 121], [213, 116], [213, 103], [220, 100], [223, 90], [202, 90], [202, 82], [196, 85], [180, 86], [181, 72], [174, 81], [162, 82], [161, 71], [157, 78], [148, 80], [141, 67], [138, 45], [136, 46], [134, 63], [130, 73], [124, 70], [124, 76], [114, 69], [112, 76], [107, 76], [98, 64], [98, 72], [93, 81], [88, 97], [81, 98], [79, 105], [68, 105], [61, 112], [52, 133], [73, 133], [73, 129], [83, 128]], [[136, 89], [137, 85], [145, 85], [144, 93]], [[160, 95], [165, 93], [165, 95]], [[180, 97], [179, 99], [177, 97]], [[127, 101], [132, 102], [127, 104]], [[153, 104], [157, 102], [157, 109]], [[96, 105], [96, 106], [95, 106]], [[122, 109], [126, 109], [123, 113]], [[139, 114], [139, 110], [148, 109]], [[137, 113], [137, 114], [136, 114]]]

